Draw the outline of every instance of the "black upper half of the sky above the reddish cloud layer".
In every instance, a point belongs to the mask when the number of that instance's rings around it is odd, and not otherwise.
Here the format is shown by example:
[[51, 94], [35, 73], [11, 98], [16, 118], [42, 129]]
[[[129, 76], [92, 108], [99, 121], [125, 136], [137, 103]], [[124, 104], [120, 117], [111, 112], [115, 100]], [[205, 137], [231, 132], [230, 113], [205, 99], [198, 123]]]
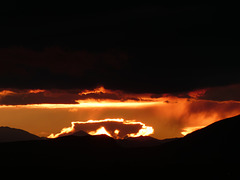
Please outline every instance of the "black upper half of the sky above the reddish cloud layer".
[[8, 1], [0, 88], [178, 93], [240, 83], [237, 7]]

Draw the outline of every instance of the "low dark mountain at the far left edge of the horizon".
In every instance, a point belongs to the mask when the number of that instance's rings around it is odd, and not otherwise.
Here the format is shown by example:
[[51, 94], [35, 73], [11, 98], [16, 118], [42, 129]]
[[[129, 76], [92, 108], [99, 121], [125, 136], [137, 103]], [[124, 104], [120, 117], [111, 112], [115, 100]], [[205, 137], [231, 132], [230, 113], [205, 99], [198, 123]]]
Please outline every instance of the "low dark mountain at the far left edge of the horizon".
[[0, 127], [0, 142], [30, 141], [40, 139], [40, 137], [21, 129], [3, 126]]

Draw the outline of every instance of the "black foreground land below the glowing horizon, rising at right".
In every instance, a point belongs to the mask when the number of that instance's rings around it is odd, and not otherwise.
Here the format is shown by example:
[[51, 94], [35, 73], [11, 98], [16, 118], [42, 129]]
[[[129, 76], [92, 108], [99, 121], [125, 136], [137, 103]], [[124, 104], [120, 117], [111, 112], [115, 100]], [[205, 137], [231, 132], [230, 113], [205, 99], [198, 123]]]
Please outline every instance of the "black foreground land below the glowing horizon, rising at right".
[[119, 141], [105, 135], [2, 142], [1, 166], [231, 176], [240, 162], [239, 125], [236, 116], [166, 142], [151, 137]]

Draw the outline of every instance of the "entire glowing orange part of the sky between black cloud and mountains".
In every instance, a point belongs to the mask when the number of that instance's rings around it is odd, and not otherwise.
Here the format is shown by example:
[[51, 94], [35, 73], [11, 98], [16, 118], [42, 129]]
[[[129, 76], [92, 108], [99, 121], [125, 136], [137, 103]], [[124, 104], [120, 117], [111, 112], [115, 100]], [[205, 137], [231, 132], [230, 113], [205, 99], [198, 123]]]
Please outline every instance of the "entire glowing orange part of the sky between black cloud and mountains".
[[[233, 87], [227, 87], [227, 89], [232, 91]], [[60, 136], [58, 132], [61, 129], [72, 133], [72, 130], [78, 129], [80, 125], [86, 128], [91, 124], [91, 127], [95, 126], [95, 128], [85, 129], [89, 134], [103, 133], [114, 138], [123, 138], [149, 134], [143, 130], [138, 134], [138, 131], [142, 127], [144, 129], [147, 124], [146, 127], [154, 129], [154, 134], [150, 133], [153, 137], [160, 139], [179, 137], [218, 120], [240, 114], [240, 101], [211, 100], [212, 91], [213, 89], [202, 89], [173, 96], [130, 94], [104, 87], [80, 92], [73, 91], [73, 95], [62, 90], [2, 90], [0, 91], [1, 125], [22, 128], [38, 135], [44, 134], [44, 136], [53, 133], [51, 137], [57, 137]], [[222, 92], [226, 93], [223, 90], [219, 93]], [[17, 98], [17, 102], [23, 99], [24, 103], [18, 104], [14, 98]], [[51, 103], [33, 103], [45, 102], [39, 101], [39, 98]], [[61, 98], [71, 100], [59, 100]], [[228, 99], [230, 98], [232, 97], [229, 95]], [[25, 104], [26, 102], [32, 103]], [[110, 121], [103, 123], [106, 118], [111, 119], [111, 123]], [[126, 131], [124, 129], [131, 127], [128, 123], [134, 121], [122, 121], [121, 118], [135, 119], [139, 124], [135, 124], [134, 127], [138, 125], [141, 128], [123, 133]], [[89, 119], [95, 119], [96, 125]], [[116, 122], [119, 120], [122, 122]], [[68, 127], [71, 122], [73, 123], [71, 127], [63, 128]], [[114, 123], [123, 126], [113, 129], [107, 127]]]

